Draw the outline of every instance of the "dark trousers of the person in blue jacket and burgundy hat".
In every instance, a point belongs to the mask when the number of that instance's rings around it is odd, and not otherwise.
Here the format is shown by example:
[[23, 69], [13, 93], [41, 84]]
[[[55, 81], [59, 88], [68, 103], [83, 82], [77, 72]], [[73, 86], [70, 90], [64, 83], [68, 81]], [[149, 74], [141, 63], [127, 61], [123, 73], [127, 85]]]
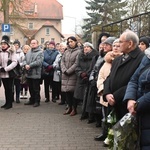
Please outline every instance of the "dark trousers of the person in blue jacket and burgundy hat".
[[53, 90], [53, 76], [46, 76], [44, 77], [44, 91], [45, 91], [45, 98], [50, 100], [49, 95], [49, 88], [52, 88], [52, 99], [54, 99], [54, 90]]

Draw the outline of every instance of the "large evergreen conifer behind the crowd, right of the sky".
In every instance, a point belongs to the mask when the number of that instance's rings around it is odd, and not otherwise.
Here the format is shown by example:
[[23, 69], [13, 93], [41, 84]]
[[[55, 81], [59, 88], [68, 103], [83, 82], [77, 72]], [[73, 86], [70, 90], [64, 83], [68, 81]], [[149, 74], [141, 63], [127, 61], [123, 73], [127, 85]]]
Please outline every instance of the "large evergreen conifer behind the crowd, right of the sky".
[[[89, 18], [84, 19], [85, 24], [82, 26], [84, 34], [92, 31], [93, 25], [106, 25], [122, 19], [122, 16], [127, 13], [125, 7], [126, 1], [120, 0], [85, 0], [88, 4], [86, 7]], [[90, 33], [91, 34], [91, 33]], [[86, 37], [85, 35], [83, 37]], [[84, 40], [89, 40], [84, 39]]]

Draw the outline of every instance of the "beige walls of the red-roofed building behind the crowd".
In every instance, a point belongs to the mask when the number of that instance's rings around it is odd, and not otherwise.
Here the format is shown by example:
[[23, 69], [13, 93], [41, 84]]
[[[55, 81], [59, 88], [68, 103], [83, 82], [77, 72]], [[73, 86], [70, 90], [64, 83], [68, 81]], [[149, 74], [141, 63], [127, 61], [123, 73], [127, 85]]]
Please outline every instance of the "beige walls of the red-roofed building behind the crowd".
[[[17, 20], [16, 20], [17, 22]], [[38, 30], [37, 33], [34, 35], [33, 38], [37, 39], [39, 41], [39, 44], [41, 44], [41, 38], [44, 38], [44, 42], [47, 40], [51, 40], [52, 38], [55, 40], [55, 42], [61, 42], [61, 36], [59, 32], [61, 33], [61, 20], [50, 20], [50, 22], [40, 19], [25, 19], [20, 20], [17, 22], [17, 24], [21, 25], [24, 28], [28, 29], [29, 22], [32, 22], [34, 24], [34, 30]], [[50, 35], [46, 35], [46, 26], [43, 25], [53, 25], [57, 30], [55, 30], [53, 27], [50, 26]], [[13, 27], [14, 33], [10, 35], [10, 39], [14, 41], [15, 39], [18, 39], [21, 42], [21, 45], [26, 44], [25, 41], [25, 35], [19, 30], [17, 27]]]

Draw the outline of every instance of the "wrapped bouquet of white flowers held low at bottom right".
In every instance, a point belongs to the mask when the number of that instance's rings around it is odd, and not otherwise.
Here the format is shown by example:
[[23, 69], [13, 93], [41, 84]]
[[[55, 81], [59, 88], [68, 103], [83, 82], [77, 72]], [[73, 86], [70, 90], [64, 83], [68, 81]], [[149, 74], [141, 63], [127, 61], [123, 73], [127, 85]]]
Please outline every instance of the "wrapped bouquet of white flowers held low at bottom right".
[[127, 113], [108, 132], [109, 150], [138, 150], [136, 118]]

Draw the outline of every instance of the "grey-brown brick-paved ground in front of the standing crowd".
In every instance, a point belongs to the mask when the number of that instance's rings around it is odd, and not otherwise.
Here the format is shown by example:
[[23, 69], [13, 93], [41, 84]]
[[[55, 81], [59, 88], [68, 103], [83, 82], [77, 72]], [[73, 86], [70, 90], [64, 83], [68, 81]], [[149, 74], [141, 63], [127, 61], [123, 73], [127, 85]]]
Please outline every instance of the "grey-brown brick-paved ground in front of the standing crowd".
[[[4, 103], [0, 88], [0, 105]], [[14, 103], [13, 109], [0, 108], [0, 150], [106, 150], [102, 142], [93, 140], [100, 133], [95, 124], [80, 121], [78, 115], [62, 115], [65, 106], [44, 102], [33, 108]], [[80, 109], [80, 108], [79, 108]], [[80, 111], [80, 110], [79, 110]]]

